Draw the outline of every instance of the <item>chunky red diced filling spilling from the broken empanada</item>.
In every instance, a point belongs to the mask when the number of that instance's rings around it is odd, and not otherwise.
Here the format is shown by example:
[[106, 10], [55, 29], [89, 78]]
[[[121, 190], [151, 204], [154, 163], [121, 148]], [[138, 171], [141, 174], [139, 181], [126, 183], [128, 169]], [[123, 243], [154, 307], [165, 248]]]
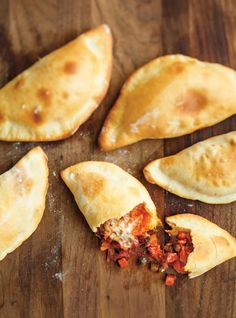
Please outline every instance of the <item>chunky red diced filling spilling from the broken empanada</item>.
[[164, 243], [160, 228], [150, 230], [151, 216], [144, 204], [139, 204], [120, 219], [110, 219], [102, 224], [96, 235], [100, 249], [106, 252], [107, 261], [127, 267], [130, 258], [154, 272], [166, 272], [165, 284], [171, 286], [176, 274], [185, 274], [185, 265], [193, 251], [190, 231], [173, 229]]

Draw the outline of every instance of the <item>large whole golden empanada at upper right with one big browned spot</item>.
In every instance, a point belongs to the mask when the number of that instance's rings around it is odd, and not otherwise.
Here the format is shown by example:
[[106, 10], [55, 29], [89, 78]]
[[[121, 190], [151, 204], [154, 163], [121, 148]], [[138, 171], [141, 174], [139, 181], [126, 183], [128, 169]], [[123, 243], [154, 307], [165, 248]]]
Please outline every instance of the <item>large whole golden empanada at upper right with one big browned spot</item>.
[[172, 138], [236, 113], [236, 73], [183, 55], [157, 58], [124, 84], [99, 143], [108, 151], [146, 138]]

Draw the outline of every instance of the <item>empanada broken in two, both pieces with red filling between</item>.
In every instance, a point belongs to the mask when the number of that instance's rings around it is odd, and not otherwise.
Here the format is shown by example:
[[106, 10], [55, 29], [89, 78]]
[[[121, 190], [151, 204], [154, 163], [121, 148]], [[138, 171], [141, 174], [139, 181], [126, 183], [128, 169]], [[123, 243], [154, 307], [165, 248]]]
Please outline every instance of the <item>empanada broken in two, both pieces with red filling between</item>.
[[172, 230], [164, 242], [162, 223], [147, 190], [112, 163], [82, 162], [61, 176], [100, 239], [101, 251], [121, 268], [135, 256], [152, 271], [166, 271], [166, 285], [173, 285], [177, 273], [193, 278], [236, 256], [235, 238], [192, 214], [167, 217]]

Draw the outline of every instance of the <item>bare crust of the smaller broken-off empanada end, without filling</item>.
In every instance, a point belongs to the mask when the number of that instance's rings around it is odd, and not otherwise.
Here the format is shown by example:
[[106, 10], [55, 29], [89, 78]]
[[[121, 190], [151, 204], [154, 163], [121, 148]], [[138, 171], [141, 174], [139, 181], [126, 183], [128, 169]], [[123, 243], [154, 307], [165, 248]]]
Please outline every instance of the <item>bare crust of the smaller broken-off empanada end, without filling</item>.
[[173, 215], [167, 217], [166, 222], [174, 231], [190, 230], [194, 249], [185, 266], [189, 278], [197, 277], [236, 256], [236, 239], [199, 215]]

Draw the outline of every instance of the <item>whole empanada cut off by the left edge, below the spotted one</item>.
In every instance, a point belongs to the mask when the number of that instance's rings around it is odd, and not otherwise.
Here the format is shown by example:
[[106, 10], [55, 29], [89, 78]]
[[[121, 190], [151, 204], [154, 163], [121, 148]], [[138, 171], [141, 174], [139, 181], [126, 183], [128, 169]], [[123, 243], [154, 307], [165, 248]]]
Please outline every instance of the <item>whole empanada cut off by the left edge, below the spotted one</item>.
[[0, 175], [0, 260], [21, 245], [37, 228], [48, 188], [47, 157], [33, 148]]

